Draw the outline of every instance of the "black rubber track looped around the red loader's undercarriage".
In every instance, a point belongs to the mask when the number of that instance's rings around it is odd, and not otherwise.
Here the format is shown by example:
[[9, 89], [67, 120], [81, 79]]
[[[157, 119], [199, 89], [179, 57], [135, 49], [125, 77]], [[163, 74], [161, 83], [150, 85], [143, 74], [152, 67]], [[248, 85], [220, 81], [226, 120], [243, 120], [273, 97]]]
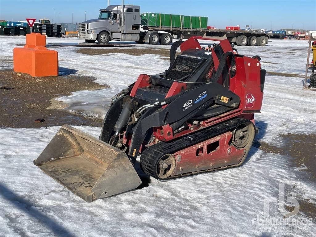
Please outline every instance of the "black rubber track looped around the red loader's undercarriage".
[[[233, 131], [238, 125], [251, 122], [247, 119], [242, 118], [234, 118], [220, 124], [205, 128], [201, 131], [197, 131], [194, 133], [190, 133], [183, 137], [180, 137], [171, 142], [160, 142], [154, 144], [147, 149], [145, 149], [140, 157], [140, 165], [143, 171], [150, 176], [160, 179], [155, 172], [156, 163], [160, 159], [161, 156], [165, 154], [173, 154], [176, 151], [182, 150], [186, 147], [192, 146], [194, 144], [200, 143], [206, 139], [216, 137], [220, 134], [223, 134], [227, 131]], [[232, 165], [234, 166], [234, 165]], [[181, 176], [171, 176], [167, 179], [175, 179], [182, 176], [194, 175], [194, 173], [186, 173]], [[160, 179], [160, 180], [167, 180]]]

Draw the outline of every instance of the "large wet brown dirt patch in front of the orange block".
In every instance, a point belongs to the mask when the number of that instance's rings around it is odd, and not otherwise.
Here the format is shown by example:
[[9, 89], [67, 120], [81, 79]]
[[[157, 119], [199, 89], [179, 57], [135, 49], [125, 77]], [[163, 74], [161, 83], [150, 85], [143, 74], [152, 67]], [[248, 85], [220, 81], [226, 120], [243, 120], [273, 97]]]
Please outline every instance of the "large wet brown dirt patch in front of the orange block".
[[[13, 70], [0, 71], [0, 126], [39, 128], [56, 125], [101, 126], [101, 119], [86, 118], [63, 109], [66, 105], [53, 98], [78, 90], [106, 88], [88, 76], [31, 77]], [[44, 119], [35, 123], [36, 119]]]

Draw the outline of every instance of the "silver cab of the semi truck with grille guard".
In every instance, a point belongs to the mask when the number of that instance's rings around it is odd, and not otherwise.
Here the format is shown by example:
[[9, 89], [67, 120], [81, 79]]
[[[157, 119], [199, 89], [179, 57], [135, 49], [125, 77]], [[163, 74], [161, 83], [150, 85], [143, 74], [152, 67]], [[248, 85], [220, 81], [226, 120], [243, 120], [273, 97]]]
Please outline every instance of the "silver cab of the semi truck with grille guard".
[[109, 40], [139, 40], [141, 14], [135, 5], [110, 5], [99, 10], [99, 17], [79, 23], [78, 38], [107, 44]]

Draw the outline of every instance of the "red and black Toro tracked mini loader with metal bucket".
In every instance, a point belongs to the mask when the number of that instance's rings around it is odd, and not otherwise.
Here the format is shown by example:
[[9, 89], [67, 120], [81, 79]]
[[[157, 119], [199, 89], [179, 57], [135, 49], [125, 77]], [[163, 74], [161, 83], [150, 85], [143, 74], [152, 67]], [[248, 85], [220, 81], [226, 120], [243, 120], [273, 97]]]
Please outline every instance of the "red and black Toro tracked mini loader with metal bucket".
[[[34, 164], [92, 202], [137, 188], [134, 165], [159, 180], [240, 166], [256, 134], [265, 70], [228, 40], [173, 43], [168, 70], [141, 74], [112, 98], [99, 139], [64, 125]], [[175, 58], [180, 46], [181, 55]]]

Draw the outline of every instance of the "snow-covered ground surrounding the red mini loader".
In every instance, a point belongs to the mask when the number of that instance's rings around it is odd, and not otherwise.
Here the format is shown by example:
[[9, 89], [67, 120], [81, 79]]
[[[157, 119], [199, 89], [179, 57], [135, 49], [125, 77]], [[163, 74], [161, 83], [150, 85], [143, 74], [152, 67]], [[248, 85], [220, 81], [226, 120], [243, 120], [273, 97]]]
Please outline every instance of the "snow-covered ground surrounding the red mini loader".
[[[12, 68], [12, 49], [15, 44], [23, 44], [25, 38], [2, 36], [0, 41], [0, 66]], [[47, 39], [47, 43], [74, 41], [78, 40]], [[262, 67], [268, 72], [304, 75], [307, 46], [307, 41], [272, 40], [265, 47], [236, 48], [240, 54], [259, 55]], [[137, 45], [139, 50], [143, 47], [170, 46]], [[89, 116], [102, 117], [112, 95], [134, 82], [139, 74], [162, 72], [169, 65], [162, 56], [155, 54], [88, 56], [76, 53], [76, 49], [54, 48], [59, 54], [59, 66], [65, 68], [63, 70], [77, 70], [77, 75], [94, 76], [96, 82], [110, 87], [78, 91], [58, 100], [69, 103], [69, 109]], [[315, 92], [303, 90], [302, 80], [293, 75], [273, 76], [271, 73], [266, 76], [262, 113], [255, 116], [260, 129], [259, 141], [281, 147], [284, 145], [282, 134], [315, 134]], [[95, 137], [101, 130], [76, 128]], [[152, 178], [147, 187], [85, 203], [33, 165], [33, 160], [58, 129], [1, 129], [1, 235], [244, 237], [315, 234], [315, 222], [307, 220], [304, 213], [283, 218], [278, 209], [278, 204], [283, 204], [282, 198], [276, 201], [282, 193], [280, 185], [285, 185], [286, 197], [316, 203], [315, 183], [301, 179], [290, 157], [266, 154], [252, 147], [242, 167], [168, 182]], [[271, 197], [274, 201], [270, 202], [270, 215], [266, 216], [264, 200]]]

